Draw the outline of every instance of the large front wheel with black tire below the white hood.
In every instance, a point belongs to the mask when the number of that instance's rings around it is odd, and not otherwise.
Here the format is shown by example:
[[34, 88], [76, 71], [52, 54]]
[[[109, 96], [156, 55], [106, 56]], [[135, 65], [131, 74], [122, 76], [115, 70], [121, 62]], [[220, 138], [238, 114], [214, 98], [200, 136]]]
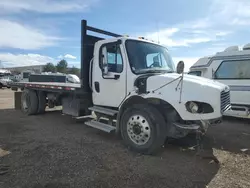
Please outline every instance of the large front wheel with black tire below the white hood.
[[167, 135], [167, 124], [155, 107], [137, 104], [124, 111], [121, 117], [121, 135], [125, 145], [131, 150], [151, 155], [162, 148]]

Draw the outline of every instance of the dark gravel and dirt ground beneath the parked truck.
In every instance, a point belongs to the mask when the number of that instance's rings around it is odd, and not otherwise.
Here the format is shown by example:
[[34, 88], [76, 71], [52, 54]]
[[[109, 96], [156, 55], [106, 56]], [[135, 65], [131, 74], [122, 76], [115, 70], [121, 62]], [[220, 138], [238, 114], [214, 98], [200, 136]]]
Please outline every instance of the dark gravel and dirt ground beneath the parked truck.
[[250, 149], [250, 122], [224, 120], [206, 140], [219, 164], [188, 149], [191, 138], [141, 156], [60, 111], [26, 117], [13, 109], [13, 92], [0, 90], [0, 148], [11, 152], [0, 157], [10, 166], [1, 188], [250, 187], [250, 152], [241, 151]]

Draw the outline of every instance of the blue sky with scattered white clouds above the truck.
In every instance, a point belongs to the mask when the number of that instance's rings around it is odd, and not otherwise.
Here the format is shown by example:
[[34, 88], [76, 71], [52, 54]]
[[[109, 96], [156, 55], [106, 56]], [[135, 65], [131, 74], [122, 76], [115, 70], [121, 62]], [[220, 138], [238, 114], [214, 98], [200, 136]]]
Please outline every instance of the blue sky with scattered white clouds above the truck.
[[80, 23], [144, 36], [169, 49], [185, 70], [203, 56], [250, 43], [250, 0], [1, 0], [4, 67], [57, 63], [80, 67]]

